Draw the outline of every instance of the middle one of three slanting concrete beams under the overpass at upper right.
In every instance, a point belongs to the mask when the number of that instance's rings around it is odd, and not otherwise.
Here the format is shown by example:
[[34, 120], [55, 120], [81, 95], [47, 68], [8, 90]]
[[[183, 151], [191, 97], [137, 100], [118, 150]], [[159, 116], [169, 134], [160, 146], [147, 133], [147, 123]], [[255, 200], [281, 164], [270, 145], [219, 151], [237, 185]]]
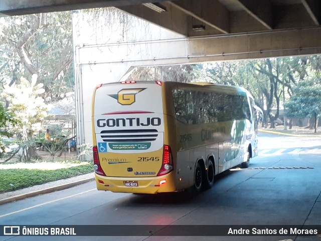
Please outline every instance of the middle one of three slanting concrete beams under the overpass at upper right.
[[272, 30], [273, 11], [269, 0], [239, 0], [242, 8], [267, 30]]

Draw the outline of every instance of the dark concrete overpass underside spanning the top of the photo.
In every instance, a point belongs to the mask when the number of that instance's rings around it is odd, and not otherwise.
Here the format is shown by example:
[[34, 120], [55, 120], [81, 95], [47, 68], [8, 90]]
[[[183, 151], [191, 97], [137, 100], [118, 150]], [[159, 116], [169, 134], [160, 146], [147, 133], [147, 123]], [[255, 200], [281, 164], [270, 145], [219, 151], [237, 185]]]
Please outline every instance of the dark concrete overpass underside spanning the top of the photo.
[[192, 58], [321, 53], [319, 0], [2, 0], [0, 16], [111, 6], [194, 40]]

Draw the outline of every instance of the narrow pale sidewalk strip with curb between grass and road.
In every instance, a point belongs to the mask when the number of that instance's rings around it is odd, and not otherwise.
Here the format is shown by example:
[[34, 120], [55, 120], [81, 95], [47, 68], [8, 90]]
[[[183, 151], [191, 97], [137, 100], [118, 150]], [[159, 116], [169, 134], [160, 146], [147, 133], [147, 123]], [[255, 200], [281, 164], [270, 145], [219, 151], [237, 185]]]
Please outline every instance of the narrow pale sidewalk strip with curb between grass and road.
[[8, 202], [18, 201], [27, 197], [37, 196], [49, 192], [54, 192], [69, 187], [77, 186], [89, 181], [95, 180], [94, 172], [70, 177], [67, 179], [61, 179], [57, 181], [51, 181], [40, 185], [35, 185], [15, 191], [9, 191], [0, 193], [0, 205]]

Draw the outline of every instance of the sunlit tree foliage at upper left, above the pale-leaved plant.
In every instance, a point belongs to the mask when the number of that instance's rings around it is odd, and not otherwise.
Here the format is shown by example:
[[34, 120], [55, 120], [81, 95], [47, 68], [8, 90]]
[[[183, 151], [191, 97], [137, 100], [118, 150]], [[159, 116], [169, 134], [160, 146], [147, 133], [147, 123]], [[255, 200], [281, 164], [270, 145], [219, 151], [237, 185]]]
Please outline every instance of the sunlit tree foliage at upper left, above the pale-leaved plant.
[[35, 74], [45, 99], [73, 90], [69, 12], [2, 18], [0, 27], [0, 90]]

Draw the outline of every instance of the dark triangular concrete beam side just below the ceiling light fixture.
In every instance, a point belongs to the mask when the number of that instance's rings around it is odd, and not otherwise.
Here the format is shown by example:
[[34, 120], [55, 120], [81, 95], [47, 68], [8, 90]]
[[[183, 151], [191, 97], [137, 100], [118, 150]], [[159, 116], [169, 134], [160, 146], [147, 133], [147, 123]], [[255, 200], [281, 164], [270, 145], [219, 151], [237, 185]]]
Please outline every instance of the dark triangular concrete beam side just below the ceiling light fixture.
[[188, 16], [167, 2], [162, 3], [162, 6], [166, 9], [162, 13], [157, 13], [143, 5], [122, 6], [118, 9], [178, 34], [188, 36]]

